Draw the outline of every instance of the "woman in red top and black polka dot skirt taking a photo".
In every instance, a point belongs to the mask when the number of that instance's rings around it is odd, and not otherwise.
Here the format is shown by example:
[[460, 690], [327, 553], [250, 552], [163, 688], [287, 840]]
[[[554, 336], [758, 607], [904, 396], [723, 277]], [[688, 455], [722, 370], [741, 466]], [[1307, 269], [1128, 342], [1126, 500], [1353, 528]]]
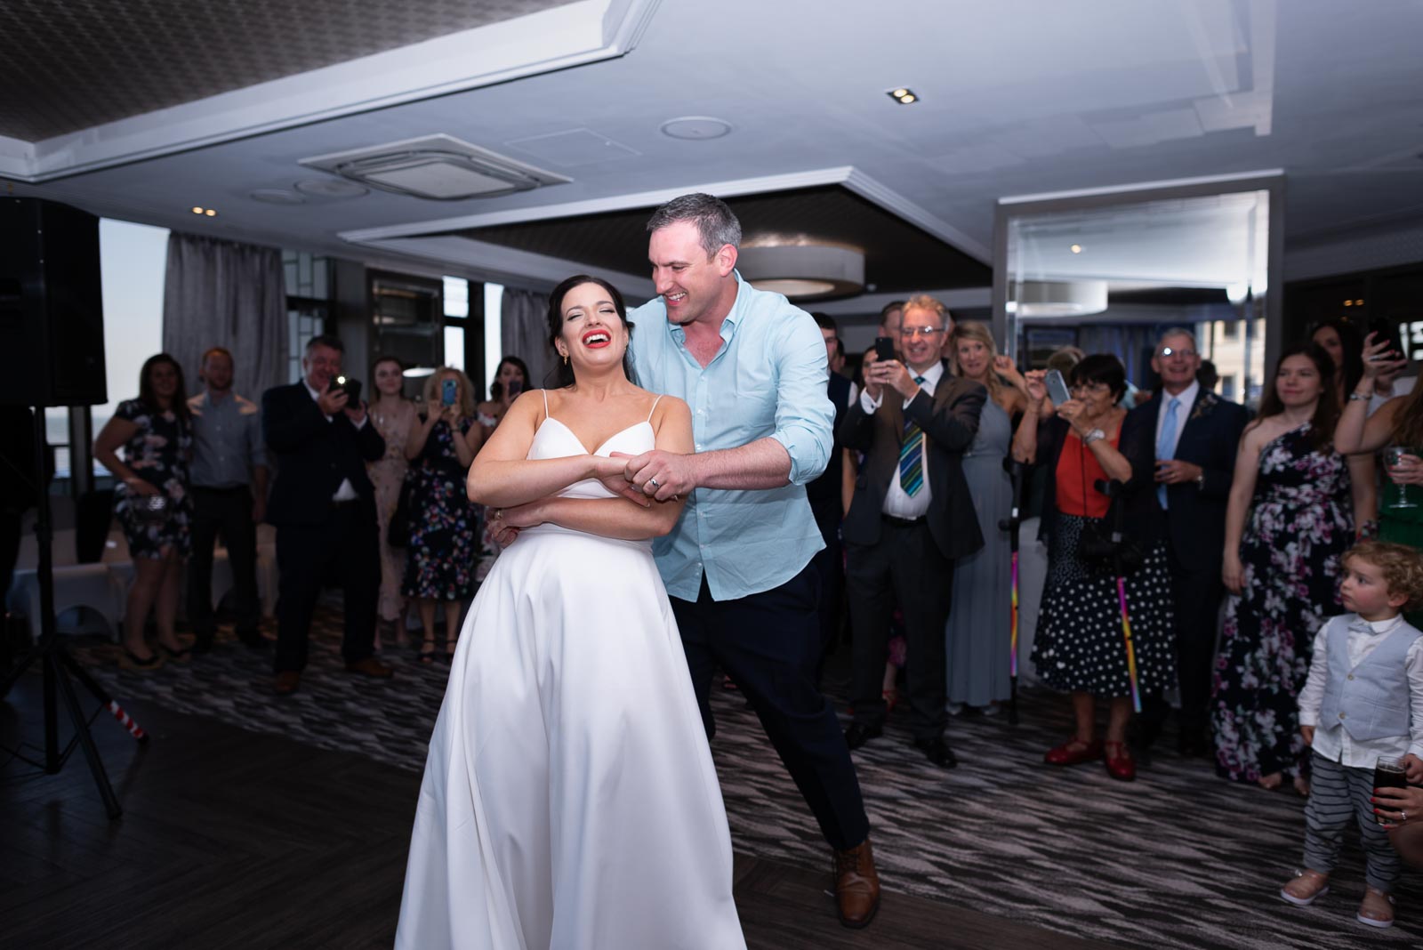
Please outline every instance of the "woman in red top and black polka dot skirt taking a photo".
[[[1053, 765], [1104, 758], [1113, 778], [1136, 778], [1127, 749], [1131, 678], [1117, 597], [1126, 573], [1137, 688], [1161, 693], [1175, 681], [1171, 643], [1171, 585], [1161, 513], [1153, 491], [1153, 427], [1118, 405], [1127, 388], [1121, 363], [1093, 354], [1072, 370], [1072, 398], [1053, 407], [1043, 373], [1027, 374], [1027, 411], [1013, 437], [1013, 458], [1053, 472], [1043, 492], [1042, 533], [1047, 539], [1047, 582], [1033, 644], [1033, 666], [1049, 685], [1072, 693], [1076, 734], [1047, 752]], [[1103, 491], [1118, 482], [1117, 522]], [[1118, 559], [1100, 550], [1120, 523]], [[1106, 742], [1097, 740], [1096, 698], [1110, 705]]]

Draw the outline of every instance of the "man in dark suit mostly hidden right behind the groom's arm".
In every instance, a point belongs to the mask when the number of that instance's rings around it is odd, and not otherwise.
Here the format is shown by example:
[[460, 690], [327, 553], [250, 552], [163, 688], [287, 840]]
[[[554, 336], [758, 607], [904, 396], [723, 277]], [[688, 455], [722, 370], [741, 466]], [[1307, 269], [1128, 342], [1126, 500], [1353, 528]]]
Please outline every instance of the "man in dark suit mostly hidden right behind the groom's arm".
[[825, 358], [830, 363], [830, 401], [835, 405], [835, 444], [830, 449], [830, 462], [820, 478], [805, 485], [805, 498], [815, 515], [815, 526], [825, 540], [825, 548], [811, 557], [811, 565], [820, 575], [820, 650], [821, 660], [830, 653], [840, 631], [840, 602], [845, 589], [844, 548], [840, 543], [840, 522], [845, 518], [845, 447], [840, 441], [840, 424], [855, 398], [855, 384], [835, 371], [837, 357], [844, 363], [840, 343], [840, 329], [835, 319], [825, 313], [810, 314], [820, 326], [825, 338]]

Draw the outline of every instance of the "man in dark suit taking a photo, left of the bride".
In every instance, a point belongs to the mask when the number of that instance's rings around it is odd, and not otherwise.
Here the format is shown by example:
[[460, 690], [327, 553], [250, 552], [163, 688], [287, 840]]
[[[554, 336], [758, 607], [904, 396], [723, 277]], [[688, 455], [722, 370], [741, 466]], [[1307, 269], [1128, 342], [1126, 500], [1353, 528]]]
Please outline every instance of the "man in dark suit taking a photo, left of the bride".
[[277, 469], [268, 502], [268, 521], [277, 529], [277, 694], [295, 693], [300, 683], [312, 613], [333, 576], [344, 594], [346, 668], [390, 676], [373, 656], [380, 549], [376, 491], [366, 475], [366, 462], [384, 454], [386, 439], [370, 424], [364, 402], [330, 388], [343, 354], [336, 337], [314, 337], [302, 358], [302, 381], [262, 395], [262, 432]]

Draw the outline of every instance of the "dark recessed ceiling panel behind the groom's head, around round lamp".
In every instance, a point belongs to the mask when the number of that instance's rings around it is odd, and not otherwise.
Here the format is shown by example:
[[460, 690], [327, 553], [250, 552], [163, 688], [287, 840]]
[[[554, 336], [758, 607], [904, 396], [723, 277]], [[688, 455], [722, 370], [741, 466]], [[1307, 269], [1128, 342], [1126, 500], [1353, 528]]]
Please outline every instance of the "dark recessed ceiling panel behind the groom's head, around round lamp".
[[[730, 198], [743, 243], [780, 236], [845, 245], [865, 253], [865, 283], [879, 293], [986, 287], [988, 265], [896, 218], [840, 185]], [[652, 208], [603, 215], [498, 225], [458, 232], [464, 238], [575, 260], [589, 267], [647, 273], [646, 223]]]

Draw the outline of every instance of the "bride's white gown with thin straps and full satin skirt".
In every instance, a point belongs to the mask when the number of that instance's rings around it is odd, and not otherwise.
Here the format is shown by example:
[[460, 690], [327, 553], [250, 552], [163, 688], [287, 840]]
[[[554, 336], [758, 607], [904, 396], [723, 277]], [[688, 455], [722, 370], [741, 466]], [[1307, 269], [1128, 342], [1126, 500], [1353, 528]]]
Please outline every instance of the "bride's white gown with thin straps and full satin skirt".
[[[598, 454], [652, 448], [640, 422]], [[529, 458], [583, 452], [545, 420]], [[564, 495], [612, 496], [596, 481]], [[455, 650], [396, 947], [744, 946], [721, 789], [650, 542], [524, 530]]]

